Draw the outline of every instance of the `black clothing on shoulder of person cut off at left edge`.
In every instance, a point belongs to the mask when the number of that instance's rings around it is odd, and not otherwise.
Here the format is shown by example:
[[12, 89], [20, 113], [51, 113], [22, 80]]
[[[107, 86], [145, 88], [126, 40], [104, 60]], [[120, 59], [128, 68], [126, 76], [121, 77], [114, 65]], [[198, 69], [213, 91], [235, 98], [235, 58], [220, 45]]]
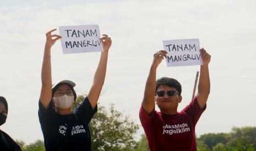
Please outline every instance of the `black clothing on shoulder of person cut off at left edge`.
[[20, 151], [20, 146], [4, 131], [0, 130], [0, 150]]

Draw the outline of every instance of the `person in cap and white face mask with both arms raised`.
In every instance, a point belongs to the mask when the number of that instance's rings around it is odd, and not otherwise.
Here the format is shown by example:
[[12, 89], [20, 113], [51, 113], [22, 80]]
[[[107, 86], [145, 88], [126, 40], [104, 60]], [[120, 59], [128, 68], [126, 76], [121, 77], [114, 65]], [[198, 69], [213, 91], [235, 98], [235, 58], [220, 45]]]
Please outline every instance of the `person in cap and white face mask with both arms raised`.
[[[55, 29], [56, 30], [56, 29]], [[112, 40], [103, 34], [99, 65], [88, 96], [71, 111], [77, 97], [75, 83], [61, 80], [52, 85], [51, 47], [61, 36], [46, 33], [46, 44], [42, 63], [42, 88], [39, 101], [39, 121], [46, 150], [91, 150], [88, 124], [97, 111], [97, 101], [105, 81], [108, 49]]]

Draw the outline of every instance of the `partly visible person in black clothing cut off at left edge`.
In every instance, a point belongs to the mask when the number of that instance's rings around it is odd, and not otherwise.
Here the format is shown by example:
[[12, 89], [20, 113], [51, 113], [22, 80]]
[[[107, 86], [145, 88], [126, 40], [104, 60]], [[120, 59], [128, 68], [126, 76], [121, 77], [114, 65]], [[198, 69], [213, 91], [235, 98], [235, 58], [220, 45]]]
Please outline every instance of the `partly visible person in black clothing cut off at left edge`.
[[[0, 96], [0, 126], [6, 123], [8, 104], [6, 98]], [[0, 130], [0, 150], [21, 150], [20, 146], [4, 131]]]

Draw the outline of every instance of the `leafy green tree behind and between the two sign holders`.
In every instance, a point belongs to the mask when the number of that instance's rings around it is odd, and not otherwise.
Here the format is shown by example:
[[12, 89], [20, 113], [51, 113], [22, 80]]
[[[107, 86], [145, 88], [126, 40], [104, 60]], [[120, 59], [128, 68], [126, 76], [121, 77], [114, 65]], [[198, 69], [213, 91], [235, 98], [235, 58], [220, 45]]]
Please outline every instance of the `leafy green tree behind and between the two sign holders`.
[[[78, 96], [73, 108], [84, 100]], [[137, 124], [123, 117], [111, 104], [107, 109], [98, 105], [98, 111], [89, 124], [92, 140], [92, 150], [131, 150], [137, 146], [133, 140], [135, 132], [139, 129]]]

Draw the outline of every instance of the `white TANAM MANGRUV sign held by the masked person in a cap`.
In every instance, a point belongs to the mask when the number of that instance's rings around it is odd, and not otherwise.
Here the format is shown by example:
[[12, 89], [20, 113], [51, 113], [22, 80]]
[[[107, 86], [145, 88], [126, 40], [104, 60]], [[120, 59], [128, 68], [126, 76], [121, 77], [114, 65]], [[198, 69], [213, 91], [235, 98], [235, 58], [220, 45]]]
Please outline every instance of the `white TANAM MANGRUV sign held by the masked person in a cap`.
[[63, 54], [103, 51], [98, 25], [59, 26]]

